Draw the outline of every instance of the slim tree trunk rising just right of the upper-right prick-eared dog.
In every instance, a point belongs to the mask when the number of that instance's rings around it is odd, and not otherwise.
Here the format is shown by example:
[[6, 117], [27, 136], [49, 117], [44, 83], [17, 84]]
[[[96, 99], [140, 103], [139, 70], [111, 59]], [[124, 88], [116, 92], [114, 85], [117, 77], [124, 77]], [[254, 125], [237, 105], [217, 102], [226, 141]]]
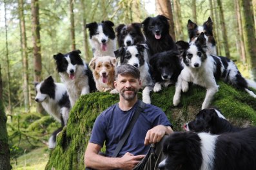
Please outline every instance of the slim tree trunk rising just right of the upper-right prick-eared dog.
[[225, 49], [225, 55], [226, 57], [230, 58], [230, 49], [228, 47], [228, 36], [226, 31], [226, 24], [224, 20], [224, 13], [222, 9], [222, 3], [221, 0], [217, 0], [218, 8], [219, 8], [219, 15], [221, 19], [221, 30], [222, 30], [222, 38], [223, 38], [223, 44]]

